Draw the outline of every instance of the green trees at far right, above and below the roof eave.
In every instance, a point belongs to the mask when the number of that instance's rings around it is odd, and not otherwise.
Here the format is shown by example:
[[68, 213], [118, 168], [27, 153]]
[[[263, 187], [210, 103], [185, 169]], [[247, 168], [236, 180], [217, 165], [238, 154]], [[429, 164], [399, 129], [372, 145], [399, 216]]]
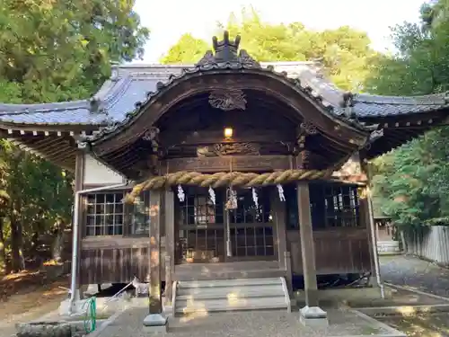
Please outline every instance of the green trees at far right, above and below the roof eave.
[[[422, 7], [420, 24], [393, 30], [399, 52], [380, 58], [366, 89], [381, 94], [441, 93], [449, 88], [449, 1]], [[449, 216], [447, 127], [374, 160], [374, 193], [399, 225], [441, 224]]]

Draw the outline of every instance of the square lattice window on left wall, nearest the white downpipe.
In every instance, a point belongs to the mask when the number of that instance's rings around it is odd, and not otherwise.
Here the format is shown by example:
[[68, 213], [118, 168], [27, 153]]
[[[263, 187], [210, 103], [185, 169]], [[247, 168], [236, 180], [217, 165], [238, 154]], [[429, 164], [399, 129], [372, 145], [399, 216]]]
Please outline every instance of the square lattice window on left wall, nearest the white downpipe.
[[123, 192], [92, 193], [86, 196], [86, 236], [123, 235]]

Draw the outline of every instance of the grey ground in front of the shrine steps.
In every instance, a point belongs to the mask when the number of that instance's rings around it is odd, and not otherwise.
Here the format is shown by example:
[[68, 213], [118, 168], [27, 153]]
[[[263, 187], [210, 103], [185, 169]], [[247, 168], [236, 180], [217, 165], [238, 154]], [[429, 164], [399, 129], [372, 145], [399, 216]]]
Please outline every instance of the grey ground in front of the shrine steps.
[[[146, 336], [147, 333], [142, 331], [146, 314], [146, 308], [129, 309], [98, 337]], [[306, 328], [299, 322], [298, 315], [297, 312], [288, 314], [285, 311], [249, 311], [172, 318], [169, 320], [169, 331], [173, 337], [323, 337], [388, 333], [382, 327], [348, 311], [328, 311], [328, 328]]]

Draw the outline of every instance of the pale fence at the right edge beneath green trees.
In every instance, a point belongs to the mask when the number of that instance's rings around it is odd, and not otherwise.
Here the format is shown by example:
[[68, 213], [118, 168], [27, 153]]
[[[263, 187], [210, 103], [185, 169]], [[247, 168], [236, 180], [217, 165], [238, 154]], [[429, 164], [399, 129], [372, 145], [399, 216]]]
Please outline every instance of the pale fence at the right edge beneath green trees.
[[449, 265], [449, 226], [423, 226], [404, 233], [405, 253]]

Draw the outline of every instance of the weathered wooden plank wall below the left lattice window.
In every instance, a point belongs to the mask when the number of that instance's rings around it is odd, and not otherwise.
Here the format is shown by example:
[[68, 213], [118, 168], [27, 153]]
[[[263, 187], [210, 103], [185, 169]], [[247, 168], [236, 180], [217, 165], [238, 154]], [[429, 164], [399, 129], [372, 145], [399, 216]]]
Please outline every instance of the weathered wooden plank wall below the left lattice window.
[[[162, 270], [165, 240], [162, 239]], [[98, 236], [84, 238], [80, 256], [81, 284], [128, 283], [134, 276], [148, 279], [149, 237]], [[161, 273], [162, 280], [164, 272]]]

